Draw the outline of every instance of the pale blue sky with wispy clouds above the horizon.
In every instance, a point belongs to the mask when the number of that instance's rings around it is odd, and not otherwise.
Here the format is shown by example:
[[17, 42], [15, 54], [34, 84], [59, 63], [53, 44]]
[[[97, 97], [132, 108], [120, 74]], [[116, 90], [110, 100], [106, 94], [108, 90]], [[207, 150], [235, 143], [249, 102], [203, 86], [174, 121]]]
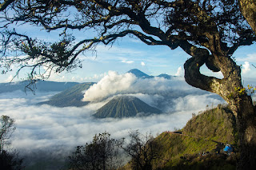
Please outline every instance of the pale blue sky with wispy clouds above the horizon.
[[[52, 31], [50, 34], [44, 30], [38, 30], [33, 26], [17, 26], [19, 31], [44, 39], [47, 42], [53, 42], [58, 39], [58, 31]], [[90, 38], [91, 32], [75, 32], [73, 33], [76, 41], [82, 38]], [[71, 73], [66, 71], [58, 74], [51, 74], [50, 81], [99, 81], [109, 70], [117, 71], [118, 73], [126, 73], [130, 69], [140, 69], [144, 73], [150, 75], [159, 75], [167, 73], [170, 75], [183, 75], [183, 64], [187, 55], [182, 49], [171, 50], [166, 46], [161, 45], [146, 45], [134, 38], [122, 38], [110, 47], [110, 45], [98, 45], [96, 53], [89, 51], [79, 58], [82, 60], [82, 69], [74, 69]], [[234, 53], [235, 60], [238, 65], [242, 65], [242, 77], [244, 79], [254, 80], [256, 75], [256, 45], [240, 47]], [[0, 82], [8, 82], [14, 77], [14, 71], [1, 75]], [[20, 81], [26, 77], [26, 72], [23, 70], [18, 78], [14, 81]], [[206, 67], [202, 68], [202, 72], [207, 75], [212, 75]], [[220, 73], [216, 73], [220, 76]]]

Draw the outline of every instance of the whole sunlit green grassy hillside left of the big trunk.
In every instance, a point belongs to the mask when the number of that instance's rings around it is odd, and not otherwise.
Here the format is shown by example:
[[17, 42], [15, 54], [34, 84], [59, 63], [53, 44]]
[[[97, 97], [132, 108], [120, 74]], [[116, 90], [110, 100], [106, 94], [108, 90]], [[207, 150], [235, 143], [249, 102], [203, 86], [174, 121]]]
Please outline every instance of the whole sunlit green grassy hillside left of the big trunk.
[[[162, 132], [156, 137], [162, 144], [162, 157], [154, 161], [154, 169], [235, 169], [234, 158], [214, 150], [224, 148], [214, 141], [235, 144], [234, 117], [229, 109], [211, 109], [193, 117], [182, 134]], [[212, 154], [200, 156], [199, 152]]]

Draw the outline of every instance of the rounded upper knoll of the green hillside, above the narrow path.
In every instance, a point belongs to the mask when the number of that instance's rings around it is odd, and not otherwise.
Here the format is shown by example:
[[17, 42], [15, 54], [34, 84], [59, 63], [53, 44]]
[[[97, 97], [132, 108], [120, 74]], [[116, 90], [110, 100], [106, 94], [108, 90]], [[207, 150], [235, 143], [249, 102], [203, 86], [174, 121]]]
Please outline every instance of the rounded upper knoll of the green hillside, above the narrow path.
[[230, 109], [218, 107], [193, 117], [182, 129], [184, 134], [234, 144], [235, 118]]

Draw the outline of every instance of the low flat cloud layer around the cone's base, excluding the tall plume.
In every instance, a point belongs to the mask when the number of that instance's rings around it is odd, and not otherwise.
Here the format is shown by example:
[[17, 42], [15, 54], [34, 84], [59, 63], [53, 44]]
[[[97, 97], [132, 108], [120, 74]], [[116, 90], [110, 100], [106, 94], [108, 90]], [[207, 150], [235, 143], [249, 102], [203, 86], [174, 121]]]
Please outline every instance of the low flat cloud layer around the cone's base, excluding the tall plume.
[[[55, 108], [49, 105], [32, 105], [35, 101], [46, 100], [50, 93], [38, 93], [38, 96], [29, 97], [20, 94], [22, 92], [3, 95], [0, 99], [0, 108], [2, 114], [14, 118], [17, 129], [12, 137], [12, 145], [23, 153], [37, 149], [55, 152], [59, 148], [62, 148], [63, 152], [70, 151], [76, 145], [86, 144], [92, 140], [95, 133], [105, 131], [116, 138], [126, 136], [130, 129], [152, 132], [156, 135], [166, 130], [182, 128], [190, 119], [191, 113], [198, 113], [212, 102], [214, 105], [222, 102], [206, 94], [179, 97], [173, 105], [169, 105], [173, 108], [172, 113], [122, 120], [98, 120], [91, 115], [102, 107], [104, 102], [82, 108]], [[142, 93], [136, 95], [149, 103], [162, 98], [159, 95], [150, 97]]]

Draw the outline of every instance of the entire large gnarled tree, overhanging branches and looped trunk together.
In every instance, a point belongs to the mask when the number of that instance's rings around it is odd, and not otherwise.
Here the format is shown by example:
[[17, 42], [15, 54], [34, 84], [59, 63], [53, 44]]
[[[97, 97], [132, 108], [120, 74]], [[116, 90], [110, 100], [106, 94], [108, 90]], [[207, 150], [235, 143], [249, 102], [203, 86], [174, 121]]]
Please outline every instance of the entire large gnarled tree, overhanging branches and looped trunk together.
[[[0, 9], [2, 68], [5, 68], [2, 71], [6, 73], [12, 64], [20, 65], [20, 69], [30, 67], [33, 79], [44, 76], [40, 72], [42, 66], [48, 68], [47, 72], [69, 70], [80, 66], [78, 56], [94, 49], [95, 45], [110, 45], [128, 35], [147, 45], [181, 47], [191, 56], [184, 64], [186, 82], [220, 95], [236, 117], [240, 148], [238, 169], [254, 168], [255, 109], [242, 86], [241, 68], [235, 63], [233, 53], [240, 46], [253, 44], [256, 36], [239, 2], [251, 1], [5, 1]], [[250, 19], [247, 21], [251, 24]], [[30, 24], [49, 32], [59, 30], [62, 38], [58, 42], [30, 38], [13, 29], [17, 24]], [[96, 30], [98, 34], [75, 42], [71, 30]], [[200, 73], [204, 64], [214, 72], [221, 71], [223, 78]]]

